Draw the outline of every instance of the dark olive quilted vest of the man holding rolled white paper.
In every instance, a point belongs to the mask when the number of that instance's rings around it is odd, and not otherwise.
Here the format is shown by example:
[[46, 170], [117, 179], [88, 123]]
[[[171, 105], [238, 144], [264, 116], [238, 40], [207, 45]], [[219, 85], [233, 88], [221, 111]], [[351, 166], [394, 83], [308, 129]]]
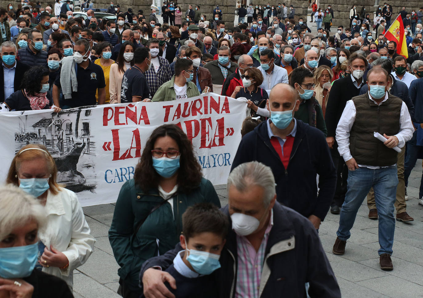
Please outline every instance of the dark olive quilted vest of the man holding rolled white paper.
[[379, 106], [365, 93], [352, 98], [356, 109], [349, 149], [357, 164], [385, 167], [396, 164], [397, 152], [376, 139], [373, 132], [393, 136], [400, 128], [402, 100], [388, 93]]

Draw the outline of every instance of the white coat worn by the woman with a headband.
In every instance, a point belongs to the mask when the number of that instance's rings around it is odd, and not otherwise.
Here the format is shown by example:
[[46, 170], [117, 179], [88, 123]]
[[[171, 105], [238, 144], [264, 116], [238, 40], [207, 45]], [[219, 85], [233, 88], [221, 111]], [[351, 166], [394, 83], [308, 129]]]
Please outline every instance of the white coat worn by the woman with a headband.
[[84, 264], [93, 252], [96, 240], [90, 235], [77, 195], [69, 189], [60, 188], [57, 195], [47, 193], [45, 205], [47, 223], [38, 231], [38, 238], [47, 249], [52, 245], [66, 255], [69, 267], [43, 267], [43, 272], [57, 276], [73, 287], [73, 271]]

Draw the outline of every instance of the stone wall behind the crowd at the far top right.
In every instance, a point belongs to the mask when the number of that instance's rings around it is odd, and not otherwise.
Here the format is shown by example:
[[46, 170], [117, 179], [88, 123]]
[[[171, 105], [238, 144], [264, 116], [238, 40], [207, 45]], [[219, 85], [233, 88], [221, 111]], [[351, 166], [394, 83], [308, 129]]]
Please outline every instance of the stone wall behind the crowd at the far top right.
[[[327, 5], [330, 4], [331, 8], [333, 9], [333, 15], [334, 20], [332, 21], [332, 25], [334, 27], [343, 25], [344, 27], [349, 27], [349, 11], [353, 4], [357, 7], [357, 13], [360, 14], [361, 8], [364, 6], [366, 8], [366, 13], [370, 14], [372, 22], [374, 18], [374, 12], [377, 9], [377, 6], [374, 6], [374, 0], [360, 0], [360, 1], [353, 1], [350, 4], [345, 4], [345, 0], [324, 0], [319, 1], [319, 7], [321, 7], [323, 10], [327, 8]], [[380, 0], [379, 4], [383, 8], [383, 3], [385, 3], [384, 0]], [[402, 5], [406, 3], [405, 10], [411, 14], [411, 11], [415, 9], [415, 11], [418, 11], [418, 9], [422, 6], [422, 3], [419, 1], [386, 1], [386, 3], [389, 3], [392, 8], [392, 17], [391, 21], [393, 21], [399, 14], [399, 11], [402, 9]], [[332, 30], [333, 31], [333, 30]]]

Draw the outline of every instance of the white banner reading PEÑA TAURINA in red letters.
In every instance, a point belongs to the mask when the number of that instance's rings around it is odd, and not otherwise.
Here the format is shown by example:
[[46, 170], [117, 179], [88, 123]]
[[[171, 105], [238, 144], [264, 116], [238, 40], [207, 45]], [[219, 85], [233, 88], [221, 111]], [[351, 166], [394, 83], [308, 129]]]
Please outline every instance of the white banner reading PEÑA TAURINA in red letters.
[[23, 146], [47, 147], [58, 182], [75, 191], [82, 206], [115, 202], [154, 128], [176, 124], [192, 140], [203, 176], [226, 183], [247, 116], [246, 98], [205, 93], [165, 102], [107, 104], [63, 110], [0, 113], [0, 174]]

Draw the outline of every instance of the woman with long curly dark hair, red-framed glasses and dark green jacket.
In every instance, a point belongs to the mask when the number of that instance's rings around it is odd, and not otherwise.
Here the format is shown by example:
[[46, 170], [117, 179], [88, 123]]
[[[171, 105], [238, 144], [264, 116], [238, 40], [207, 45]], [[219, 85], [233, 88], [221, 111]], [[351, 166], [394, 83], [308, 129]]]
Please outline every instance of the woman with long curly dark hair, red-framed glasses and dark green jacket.
[[157, 127], [147, 140], [134, 178], [121, 188], [109, 230], [113, 254], [121, 266], [123, 297], [143, 294], [138, 287], [143, 262], [174, 248], [182, 232], [182, 213], [200, 202], [220, 207], [213, 185], [201, 175], [190, 139], [174, 124]]

